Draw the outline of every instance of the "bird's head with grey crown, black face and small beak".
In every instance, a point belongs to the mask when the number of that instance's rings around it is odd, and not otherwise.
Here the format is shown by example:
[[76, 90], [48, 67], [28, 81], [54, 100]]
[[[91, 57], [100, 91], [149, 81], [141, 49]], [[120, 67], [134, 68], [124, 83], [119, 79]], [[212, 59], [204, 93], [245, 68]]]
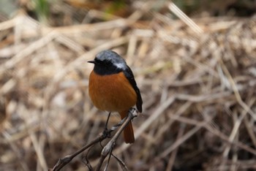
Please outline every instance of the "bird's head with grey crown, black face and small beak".
[[104, 50], [97, 54], [94, 61], [94, 72], [98, 75], [116, 74], [127, 68], [127, 64], [121, 56], [111, 50]]

